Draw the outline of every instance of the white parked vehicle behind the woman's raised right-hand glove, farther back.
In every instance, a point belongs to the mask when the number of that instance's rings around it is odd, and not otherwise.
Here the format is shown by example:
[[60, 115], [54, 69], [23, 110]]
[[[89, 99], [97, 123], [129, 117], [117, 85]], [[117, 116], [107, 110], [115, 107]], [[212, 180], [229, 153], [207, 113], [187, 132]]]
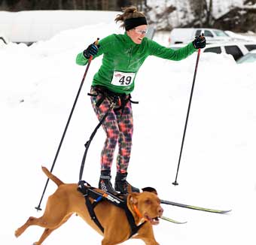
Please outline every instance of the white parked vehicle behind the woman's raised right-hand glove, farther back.
[[169, 44], [187, 44], [193, 41], [195, 36], [204, 34], [208, 44], [218, 41], [232, 41], [227, 33], [220, 29], [210, 28], [174, 28], [170, 33]]

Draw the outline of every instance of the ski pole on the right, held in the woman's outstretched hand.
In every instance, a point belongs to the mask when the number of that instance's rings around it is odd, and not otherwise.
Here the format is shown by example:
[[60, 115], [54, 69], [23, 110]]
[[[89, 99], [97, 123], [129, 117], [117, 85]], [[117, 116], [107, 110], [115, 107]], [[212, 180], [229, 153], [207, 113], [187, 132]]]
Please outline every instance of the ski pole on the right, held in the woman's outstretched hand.
[[175, 186], [178, 186], [178, 182], [177, 182], [178, 170], [179, 170], [179, 166], [181, 164], [181, 155], [182, 155], [182, 150], [183, 150], [183, 145], [184, 145], [184, 138], [185, 138], [186, 130], [187, 130], [187, 121], [188, 121], [188, 116], [189, 116], [189, 113], [190, 113], [190, 105], [191, 105], [191, 101], [192, 101], [192, 97], [193, 97], [194, 84], [195, 84], [195, 80], [196, 80], [196, 77], [197, 77], [197, 66], [198, 66], [198, 62], [199, 62], [200, 51], [201, 51], [201, 49], [199, 49], [198, 53], [197, 53], [197, 62], [196, 62], [196, 67], [195, 67], [195, 71], [194, 71], [194, 78], [193, 78], [192, 88], [191, 88], [191, 92], [190, 92], [190, 100], [189, 100], [189, 104], [188, 104], [188, 108], [187, 108], [187, 118], [186, 118], [186, 122], [185, 122], [185, 126], [184, 126], [183, 138], [182, 138], [182, 143], [181, 143], [181, 150], [180, 150], [179, 159], [178, 159], [178, 168], [177, 168], [177, 172], [176, 172], [175, 181], [172, 183], [172, 185], [175, 185]]

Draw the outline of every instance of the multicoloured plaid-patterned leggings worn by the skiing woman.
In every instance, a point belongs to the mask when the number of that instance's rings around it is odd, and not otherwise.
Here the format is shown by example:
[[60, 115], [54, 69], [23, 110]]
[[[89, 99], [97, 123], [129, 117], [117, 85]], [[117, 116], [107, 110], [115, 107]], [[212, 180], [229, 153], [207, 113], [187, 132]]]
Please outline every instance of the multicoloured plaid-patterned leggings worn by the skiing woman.
[[[90, 92], [96, 94], [95, 89], [92, 87]], [[93, 110], [96, 113], [98, 119], [102, 119], [102, 116], [108, 111], [111, 101], [109, 98], [105, 98], [99, 107], [96, 107], [96, 102], [102, 95], [91, 96], [91, 103]], [[120, 100], [117, 102], [116, 107], [120, 107]], [[107, 135], [105, 144], [101, 154], [101, 169], [111, 170], [111, 165], [114, 159], [114, 150], [118, 142], [118, 155], [117, 155], [117, 172], [125, 173], [127, 171], [130, 153], [132, 150], [132, 138], [133, 138], [133, 110], [131, 102], [128, 101], [122, 110], [111, 110], [108, 113], [105, 121], [102, 123], [102, 127]]]

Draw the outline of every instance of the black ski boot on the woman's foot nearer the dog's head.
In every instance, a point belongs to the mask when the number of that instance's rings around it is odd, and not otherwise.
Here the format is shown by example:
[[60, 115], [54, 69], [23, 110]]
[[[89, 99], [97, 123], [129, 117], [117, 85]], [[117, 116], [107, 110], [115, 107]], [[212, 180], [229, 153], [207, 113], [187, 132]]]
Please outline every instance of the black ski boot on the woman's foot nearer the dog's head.
[[127, 195], [130, 192], [139, 192], [139, 189], [126, 181], [127, 173], [117, 173], [114, 189], [120, 194]]

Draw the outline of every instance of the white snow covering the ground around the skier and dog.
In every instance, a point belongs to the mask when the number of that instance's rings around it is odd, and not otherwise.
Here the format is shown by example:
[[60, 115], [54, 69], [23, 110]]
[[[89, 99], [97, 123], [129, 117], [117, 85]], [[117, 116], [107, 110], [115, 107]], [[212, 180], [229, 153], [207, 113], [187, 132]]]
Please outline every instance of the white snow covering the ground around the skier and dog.
[[[29, 227], [19, 238], [16, 228], [38, 206], [84, 66], [75, 57], [96, 38], [122, 32], [111, 24], [61, 32], [26, 47], [8, 44], [0, 50], [0, 185], [1, 244], [32, 244], [43, 228]], [[166, 41], [156, 37], [156, 40]], [[203, 213], [163, 204], [164, 220], [154, 227], [160, 244], [254, 244], [256, 213], [255, 138], [256, 69], [237, 65], [228, 55], [202, 53], [184, 141], [178, 186], [173, 186], [194, 76], [197, 54], [181, 62], [149, 57], [136, 77], [133, 99], [135, 131], [128, 181], [154, 186], [160, 198], [203, 207], [232, 209], [227, 215]], [[78, 182], [84, 144], [98, 123], [87, 92], [101, 59], [93, 60], [75, 107], [53, 174]], [[87, 154], [83, 179], [99, 180], [99, 156], [105, 133], [99, 129]], [[113, 164], [112, 175], [115, 166]], [[49, 183], [41, 207], [56, 189]], [[44, 244], [99, 244], [99, 236], [78, 216], [58, 228]], [[143, 244], [129, 240], [123, 244]]]

